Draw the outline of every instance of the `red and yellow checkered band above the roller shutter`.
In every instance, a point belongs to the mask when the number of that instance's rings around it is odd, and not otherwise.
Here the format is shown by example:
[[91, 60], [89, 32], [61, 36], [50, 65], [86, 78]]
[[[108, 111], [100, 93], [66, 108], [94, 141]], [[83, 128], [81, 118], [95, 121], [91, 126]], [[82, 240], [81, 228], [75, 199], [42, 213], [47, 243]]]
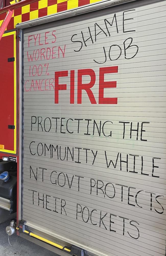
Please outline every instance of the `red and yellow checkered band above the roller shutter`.
[[[6, 30], [14, 29], [17, 23], [37, 19], [99, 1], [101, 0], [40, 0], [15, 9]], [[5, 16], [5, 13], [0, 15], [0, 25]]]

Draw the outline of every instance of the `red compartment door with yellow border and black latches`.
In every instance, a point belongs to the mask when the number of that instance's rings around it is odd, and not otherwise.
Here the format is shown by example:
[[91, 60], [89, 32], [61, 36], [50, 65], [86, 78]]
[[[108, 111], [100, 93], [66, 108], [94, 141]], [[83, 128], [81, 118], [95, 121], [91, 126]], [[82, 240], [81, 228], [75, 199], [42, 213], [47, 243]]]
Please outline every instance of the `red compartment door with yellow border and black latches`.
[[0, 152], [16, 154], [16, 31], [0, 41]]

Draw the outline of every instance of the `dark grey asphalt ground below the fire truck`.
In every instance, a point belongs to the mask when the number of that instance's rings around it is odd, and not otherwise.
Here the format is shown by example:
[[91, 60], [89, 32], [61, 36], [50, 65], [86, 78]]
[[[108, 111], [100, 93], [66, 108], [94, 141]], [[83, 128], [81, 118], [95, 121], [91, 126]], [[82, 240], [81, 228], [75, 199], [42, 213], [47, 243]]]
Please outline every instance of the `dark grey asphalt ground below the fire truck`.
[[0, 256], [58, 256], [49, 250], [46, 250], [26, 239], [18, 237], [15, 234], [9, 236], [6, 234], [6, 227], [10, 221], [0, 224]]

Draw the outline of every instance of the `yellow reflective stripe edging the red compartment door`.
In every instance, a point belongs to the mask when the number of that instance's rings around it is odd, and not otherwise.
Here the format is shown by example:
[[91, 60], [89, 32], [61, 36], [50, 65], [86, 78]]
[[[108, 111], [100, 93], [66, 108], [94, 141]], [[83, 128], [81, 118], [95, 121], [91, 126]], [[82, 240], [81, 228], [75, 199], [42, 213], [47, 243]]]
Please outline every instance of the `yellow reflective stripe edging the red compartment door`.
[[16, 78], [16, 31], [12, 31], [12, 32], [8, 32], [3, 34], [4, 36], [9, 36], [9, 35], [14, 35], [13, 36], [13, 41], [14, 41], [14, 58], [15, 58], [15, 62], [14, 62], [14, 125], [15, 125], [15, 129], [14, 129], [14, 150], [6, 150], [6, 149], [1, 149], [1, 152], [6, 152], [6, 153], [11, 153], [11, 154], [16, 154], [16, 136], [17, 136], [17, 127], [16, 127], [16, 117], [17, 117], [17, 107], [16, 107], [16, 101], [17, 101], [17, 78]]

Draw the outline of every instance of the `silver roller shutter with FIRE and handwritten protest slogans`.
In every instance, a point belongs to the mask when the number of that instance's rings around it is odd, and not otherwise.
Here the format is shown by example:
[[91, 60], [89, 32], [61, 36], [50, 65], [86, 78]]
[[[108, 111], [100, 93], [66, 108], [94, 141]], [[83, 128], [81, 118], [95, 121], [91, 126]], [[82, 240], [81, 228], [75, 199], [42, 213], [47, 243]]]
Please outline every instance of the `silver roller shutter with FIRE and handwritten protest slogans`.
[[24, 33], [22, 218], [98, 255], [165, 255], [165, 6]]

